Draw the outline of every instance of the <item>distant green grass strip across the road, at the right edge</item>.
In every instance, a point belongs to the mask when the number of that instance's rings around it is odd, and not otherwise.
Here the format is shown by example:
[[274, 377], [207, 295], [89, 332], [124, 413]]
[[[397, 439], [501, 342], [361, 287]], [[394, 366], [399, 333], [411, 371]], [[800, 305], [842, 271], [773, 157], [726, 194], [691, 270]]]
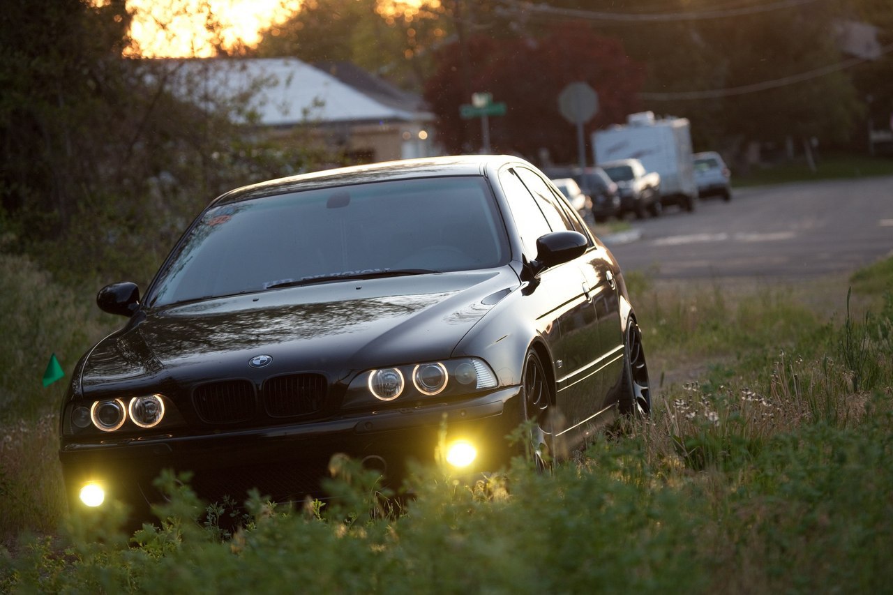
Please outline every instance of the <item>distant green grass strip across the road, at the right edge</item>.
[[736, 172], [732, 177], [732, 185], [739, 188], [803, 180], [836, 180], [884, 175], [893, 175], [893, 158], [827, 155], [817, 158], [814, 172], [810, 170], [805, 160], [798, 159], [785, 163], [754, 166], [747, 173]]

